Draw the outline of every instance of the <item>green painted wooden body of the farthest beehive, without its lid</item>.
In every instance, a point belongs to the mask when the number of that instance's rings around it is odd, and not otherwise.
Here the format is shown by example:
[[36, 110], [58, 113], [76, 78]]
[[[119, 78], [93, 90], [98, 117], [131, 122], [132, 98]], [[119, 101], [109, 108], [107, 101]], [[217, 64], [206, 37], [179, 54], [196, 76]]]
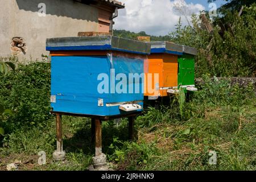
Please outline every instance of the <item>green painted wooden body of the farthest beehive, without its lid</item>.
[[183, 55], [178, 59], [178, 85], [195, 85], [195, 57]]

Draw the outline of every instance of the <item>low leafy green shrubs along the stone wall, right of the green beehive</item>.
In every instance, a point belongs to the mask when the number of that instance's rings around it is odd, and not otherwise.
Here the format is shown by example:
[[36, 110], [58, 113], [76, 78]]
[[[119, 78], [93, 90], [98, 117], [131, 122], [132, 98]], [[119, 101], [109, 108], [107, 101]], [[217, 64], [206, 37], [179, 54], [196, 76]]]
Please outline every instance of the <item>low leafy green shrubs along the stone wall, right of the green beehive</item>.
[[240, 111], [241, 105], [249, 104], [255, 98], [253, 84], [246, 87], [231, 85], [229, 79], [210, 80], [204, 76], [205, 84], [199, 86], [199, 91], [191, 95], [190, 102], [185, 104], [187, 118], [204, 117], [205, 111], [216, 107], [230, 107]]

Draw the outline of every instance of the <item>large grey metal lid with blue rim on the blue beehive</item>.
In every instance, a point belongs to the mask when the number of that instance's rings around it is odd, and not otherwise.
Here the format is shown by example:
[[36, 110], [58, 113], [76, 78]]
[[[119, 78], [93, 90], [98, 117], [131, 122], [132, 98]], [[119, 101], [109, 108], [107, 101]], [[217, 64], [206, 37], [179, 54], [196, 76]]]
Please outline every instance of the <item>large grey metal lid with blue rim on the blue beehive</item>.
[[47, 51], [114, 50], [150, 54], [150, 44], [116, 36], [84, 36], [46, 40]]

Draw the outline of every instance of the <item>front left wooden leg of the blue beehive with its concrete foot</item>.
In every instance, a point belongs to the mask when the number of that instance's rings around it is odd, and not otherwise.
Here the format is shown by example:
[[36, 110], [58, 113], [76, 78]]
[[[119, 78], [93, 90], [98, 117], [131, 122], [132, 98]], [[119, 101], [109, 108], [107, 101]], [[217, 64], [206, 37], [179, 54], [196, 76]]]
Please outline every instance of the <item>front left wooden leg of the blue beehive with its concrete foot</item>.
[[63, 139], [62, 139], [62, 123], [61, 115], [56, 114], [56, 139], [57, 139], [57, 150], [53, 152], [53, 159], [56, 161], [65, 160], [65, 151], [63, 151]]

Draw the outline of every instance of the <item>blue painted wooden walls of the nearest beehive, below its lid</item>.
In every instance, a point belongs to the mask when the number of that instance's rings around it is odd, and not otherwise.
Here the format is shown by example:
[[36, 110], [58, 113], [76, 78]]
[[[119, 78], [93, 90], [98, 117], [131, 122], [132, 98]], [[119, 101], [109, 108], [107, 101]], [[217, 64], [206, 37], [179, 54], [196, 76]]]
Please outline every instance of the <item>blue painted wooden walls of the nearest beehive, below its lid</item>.
[[[56, 102], [51, 103], [53, 111], [89, 115], [127, 114], [119, 110], [119, 106], [108, 107], [106, 104], [142, 101], [142, 89], [139, 94], [98, 93], [101, 81], [97, 77], [100, 73], [109, 76], [110, 91], [111, 68], [115, 69], [115, 76], [124, 73], [128, 78], [129, 73], [143, 73], [143, 59], [116, 56], [111, 63], [108, 56], [52, 56], [51, 95], [56, 96]], [[137, 83], [141, 88], [142, 84], [142, 80]], [[104, 106], [98, 106], [99, 98], [104, 101]]]

